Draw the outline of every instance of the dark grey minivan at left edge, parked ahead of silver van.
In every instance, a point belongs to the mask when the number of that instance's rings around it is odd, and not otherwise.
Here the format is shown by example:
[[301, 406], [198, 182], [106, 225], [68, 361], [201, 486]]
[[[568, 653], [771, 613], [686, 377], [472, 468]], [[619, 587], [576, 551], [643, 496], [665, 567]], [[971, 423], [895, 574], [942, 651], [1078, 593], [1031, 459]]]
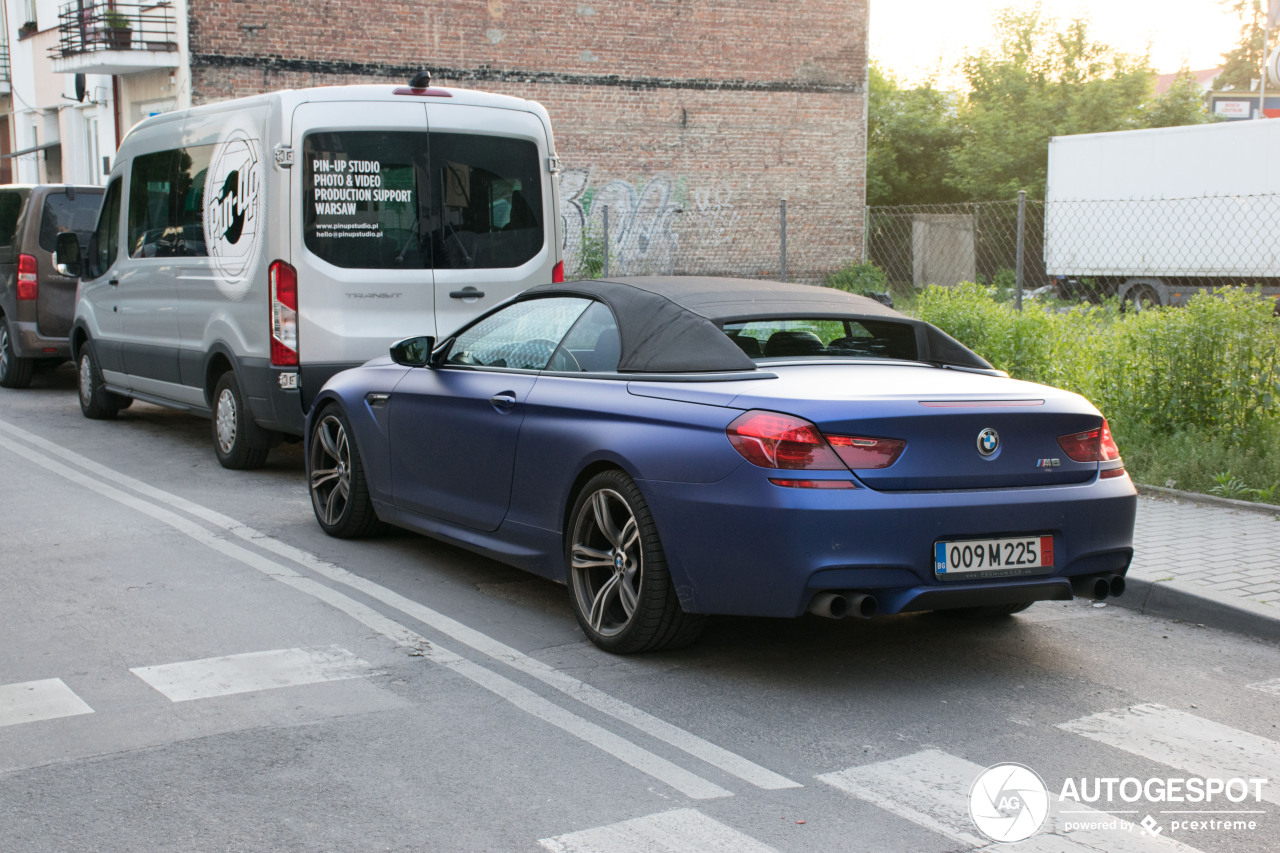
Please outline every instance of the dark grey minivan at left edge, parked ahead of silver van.
[[26, 388], [36, 366], [72, 357], [76, 279], [54, 266], [58, 234], [88, 240], [101, 187], [0, 186], [0, 386]]

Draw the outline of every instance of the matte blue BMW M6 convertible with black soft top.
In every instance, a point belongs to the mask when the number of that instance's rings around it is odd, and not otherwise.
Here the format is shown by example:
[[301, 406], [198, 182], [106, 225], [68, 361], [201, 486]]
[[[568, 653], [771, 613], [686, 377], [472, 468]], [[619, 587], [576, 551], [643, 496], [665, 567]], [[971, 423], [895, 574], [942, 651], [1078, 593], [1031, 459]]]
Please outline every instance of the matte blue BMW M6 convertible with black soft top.
[[338, 374], [316, 517], [566, 583], [611, 652], [707, 613], [1004, 616], [1120, 594], [1137, 497], [1088, 401], [841, 291], [719, 278], [531, 288]]

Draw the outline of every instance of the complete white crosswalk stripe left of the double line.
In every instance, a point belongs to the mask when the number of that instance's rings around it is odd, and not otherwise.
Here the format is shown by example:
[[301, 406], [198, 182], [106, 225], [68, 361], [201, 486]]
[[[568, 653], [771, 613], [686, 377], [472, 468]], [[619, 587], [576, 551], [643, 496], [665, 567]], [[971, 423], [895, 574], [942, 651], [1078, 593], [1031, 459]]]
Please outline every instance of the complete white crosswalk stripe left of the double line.
[[372, 669], [347, 649], [330, 646], [137, 666], [129, 671], [166, 695], [170, 702], [188, 702], [236, 693], [358, 679], [372, 674]]

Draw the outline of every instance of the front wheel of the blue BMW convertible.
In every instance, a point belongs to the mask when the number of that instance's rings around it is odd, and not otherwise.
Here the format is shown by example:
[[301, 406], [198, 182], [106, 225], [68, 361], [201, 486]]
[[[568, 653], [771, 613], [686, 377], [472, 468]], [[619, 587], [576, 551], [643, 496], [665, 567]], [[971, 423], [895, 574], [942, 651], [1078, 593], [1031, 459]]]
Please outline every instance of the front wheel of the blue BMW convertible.
[[358, 539], [381, 526], [351, 423], [337, 406], [321, 411], [311, 429], [307, 484], [316, 521], [329, 535]]

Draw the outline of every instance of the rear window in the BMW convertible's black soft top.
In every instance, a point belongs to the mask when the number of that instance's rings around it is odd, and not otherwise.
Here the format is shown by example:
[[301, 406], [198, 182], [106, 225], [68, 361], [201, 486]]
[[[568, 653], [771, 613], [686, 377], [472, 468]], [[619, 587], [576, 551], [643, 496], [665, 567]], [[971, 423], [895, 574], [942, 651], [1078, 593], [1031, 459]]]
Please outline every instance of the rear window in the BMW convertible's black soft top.
[[755, 360], [835, 357], [919, 360], [915, 328], [893, 320], [780, 319], [726, 323], [724, 334]]

